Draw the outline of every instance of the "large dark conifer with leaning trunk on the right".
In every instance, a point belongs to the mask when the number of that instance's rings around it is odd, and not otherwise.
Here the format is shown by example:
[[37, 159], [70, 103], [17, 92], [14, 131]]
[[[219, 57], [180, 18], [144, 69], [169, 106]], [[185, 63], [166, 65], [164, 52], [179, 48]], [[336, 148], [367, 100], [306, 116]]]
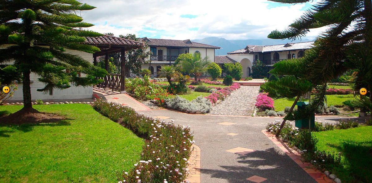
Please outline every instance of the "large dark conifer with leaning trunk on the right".
[[[271, 0], [279, 3], [306, 3], [310, 0]], [[287, 115], [287, 119], [301, 118], [314, 113], [326, 101], [327, 82], [350, 69], [354, 89], [365, 87], [369, 96], [360, 97], [363, 102], [372, 101], [372, 2], [371, 0], [324, 0], [315, 4], [304, 15], [284, 31], [274, 30], [268, 38], [297, 39], [309, 29], [328, 26], [317, 37], [314, 47], [302, 58], [281, 61], [270, 73], [278, 75], [300, 75], [296, 80], [307, 80], [315, 88], [310, 105], [305, 111]], [[296, 74], [304, 73], [304, 74]], [[283, 77], [285, 78], [285, 77]], [[279, 81], [276, 82], [280, 82]], [[274, 81], [275, 82], [275, 81]], [[298, 93], [301, 94], [302, 92]], [[271, 95], [271, 93], [270, 93]], [[371, 109], [369, 109], [371, 110]]]

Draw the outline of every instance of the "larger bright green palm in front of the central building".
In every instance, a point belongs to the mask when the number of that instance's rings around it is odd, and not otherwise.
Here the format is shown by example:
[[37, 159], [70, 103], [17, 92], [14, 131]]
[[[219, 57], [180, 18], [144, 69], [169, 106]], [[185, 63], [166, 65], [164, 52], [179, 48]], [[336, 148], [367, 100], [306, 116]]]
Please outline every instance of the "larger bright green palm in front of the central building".
[[210, 63], [211, 61], [209, 61], [208, 57], [202, 59], [198, 52], [195, 52], [193, 55], [189, 53], [181, 54], [174, 62], [178, 70], [192, 75], [195, 81], [206, 72]]

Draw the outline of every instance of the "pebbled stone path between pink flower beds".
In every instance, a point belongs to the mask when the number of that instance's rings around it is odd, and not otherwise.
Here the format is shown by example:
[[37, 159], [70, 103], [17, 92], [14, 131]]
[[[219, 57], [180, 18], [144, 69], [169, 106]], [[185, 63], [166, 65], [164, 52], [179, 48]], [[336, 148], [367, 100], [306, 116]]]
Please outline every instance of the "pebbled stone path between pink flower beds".
[[220, 104], [214, 106], [210, 114], [250, 116], [259, 89], [259, 86], [241, 86]]

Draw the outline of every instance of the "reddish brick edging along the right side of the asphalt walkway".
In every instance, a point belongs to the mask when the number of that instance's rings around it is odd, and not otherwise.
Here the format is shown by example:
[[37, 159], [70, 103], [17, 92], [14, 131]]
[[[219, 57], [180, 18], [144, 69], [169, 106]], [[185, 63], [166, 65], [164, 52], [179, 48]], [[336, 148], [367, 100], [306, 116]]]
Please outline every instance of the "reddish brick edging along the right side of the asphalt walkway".
[[317, 170], [311, 163], [305, 162], [297, 151], [289, 148], [288, 144], [275, 137], [274, 134], [267, 132], [266, 130], [261, 131], [266, 135], [275, 145], [277, 145], [286, 155], [288, 155], [298, 166], [300, 166], [307, 174], [309, 174], [318, 183], [334, 183], [333, 180], [329, 179], [324, 173]]

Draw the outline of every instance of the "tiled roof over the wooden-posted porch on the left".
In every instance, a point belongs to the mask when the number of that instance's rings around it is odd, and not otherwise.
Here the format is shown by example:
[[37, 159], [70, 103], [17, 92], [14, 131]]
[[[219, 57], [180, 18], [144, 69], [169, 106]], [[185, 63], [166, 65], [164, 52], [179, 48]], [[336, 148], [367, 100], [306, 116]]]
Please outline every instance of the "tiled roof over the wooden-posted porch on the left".
[[133, 41], [130, 39], [119, 38], [115, 36], [99, 36], [99, 37], [85, 37], [87, 40], [84, 44], [89, 45], [113, 45], [113, 46], [135, 46], [142, 47], [144, 46], [143, 42]]

